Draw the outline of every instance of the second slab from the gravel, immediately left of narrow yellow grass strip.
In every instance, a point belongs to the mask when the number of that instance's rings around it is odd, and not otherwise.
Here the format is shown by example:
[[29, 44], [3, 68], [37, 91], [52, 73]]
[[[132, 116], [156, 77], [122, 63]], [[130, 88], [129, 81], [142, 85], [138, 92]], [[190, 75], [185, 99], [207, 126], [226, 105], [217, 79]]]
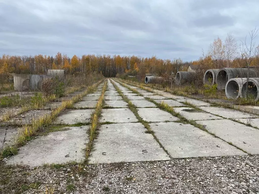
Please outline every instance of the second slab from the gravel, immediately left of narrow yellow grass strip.
[[95, 109], [69, 110], [67, 113], [57, 117], [55, 124], [71, 125], [76, 123], [90, 122], [91, 113]]

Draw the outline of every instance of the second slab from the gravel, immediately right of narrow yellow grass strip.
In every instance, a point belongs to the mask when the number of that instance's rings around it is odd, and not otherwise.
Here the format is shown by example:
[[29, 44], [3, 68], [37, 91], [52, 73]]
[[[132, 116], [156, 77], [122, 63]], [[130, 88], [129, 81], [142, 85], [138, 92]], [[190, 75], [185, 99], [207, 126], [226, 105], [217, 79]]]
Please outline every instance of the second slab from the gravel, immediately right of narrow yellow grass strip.
[[112, 108], [102, 110], [101, 122], [131, 123], [138, 122], [138, 119], [128, 108]]

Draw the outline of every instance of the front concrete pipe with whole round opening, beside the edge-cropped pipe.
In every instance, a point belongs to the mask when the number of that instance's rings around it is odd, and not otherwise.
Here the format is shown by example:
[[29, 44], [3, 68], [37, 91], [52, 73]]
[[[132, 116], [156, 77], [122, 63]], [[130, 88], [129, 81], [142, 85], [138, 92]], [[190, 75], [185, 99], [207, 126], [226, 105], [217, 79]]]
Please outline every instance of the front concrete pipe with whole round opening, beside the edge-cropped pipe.
[[225, 93], [227, 98], [236, 99], [242, 97], [241, 89], [247, 82], [246, 78], [232, 78], [227, 81]]

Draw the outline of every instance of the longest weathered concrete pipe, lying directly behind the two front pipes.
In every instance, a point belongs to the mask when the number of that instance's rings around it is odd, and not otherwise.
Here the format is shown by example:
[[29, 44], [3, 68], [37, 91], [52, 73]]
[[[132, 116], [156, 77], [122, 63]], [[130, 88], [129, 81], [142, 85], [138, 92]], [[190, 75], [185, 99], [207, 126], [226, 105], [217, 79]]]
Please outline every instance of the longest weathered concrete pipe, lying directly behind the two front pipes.
[[216, 84], [218, 84], [218, 90], [225, 88], [227, 81], [231, 78], [246, 78], [246, 77], [257, 77], [256, 72], [248, 68], [221, 68], [218, 75], [216, 76]]

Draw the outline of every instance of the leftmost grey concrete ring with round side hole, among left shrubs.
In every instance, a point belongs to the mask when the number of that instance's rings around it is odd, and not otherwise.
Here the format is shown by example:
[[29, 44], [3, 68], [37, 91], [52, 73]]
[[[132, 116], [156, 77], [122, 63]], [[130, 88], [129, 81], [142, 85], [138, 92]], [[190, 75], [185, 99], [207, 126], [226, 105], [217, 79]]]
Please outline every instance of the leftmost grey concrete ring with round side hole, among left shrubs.
[[16, 91], [29, 88], [30, 74], [13, 74], [13, 85]]

